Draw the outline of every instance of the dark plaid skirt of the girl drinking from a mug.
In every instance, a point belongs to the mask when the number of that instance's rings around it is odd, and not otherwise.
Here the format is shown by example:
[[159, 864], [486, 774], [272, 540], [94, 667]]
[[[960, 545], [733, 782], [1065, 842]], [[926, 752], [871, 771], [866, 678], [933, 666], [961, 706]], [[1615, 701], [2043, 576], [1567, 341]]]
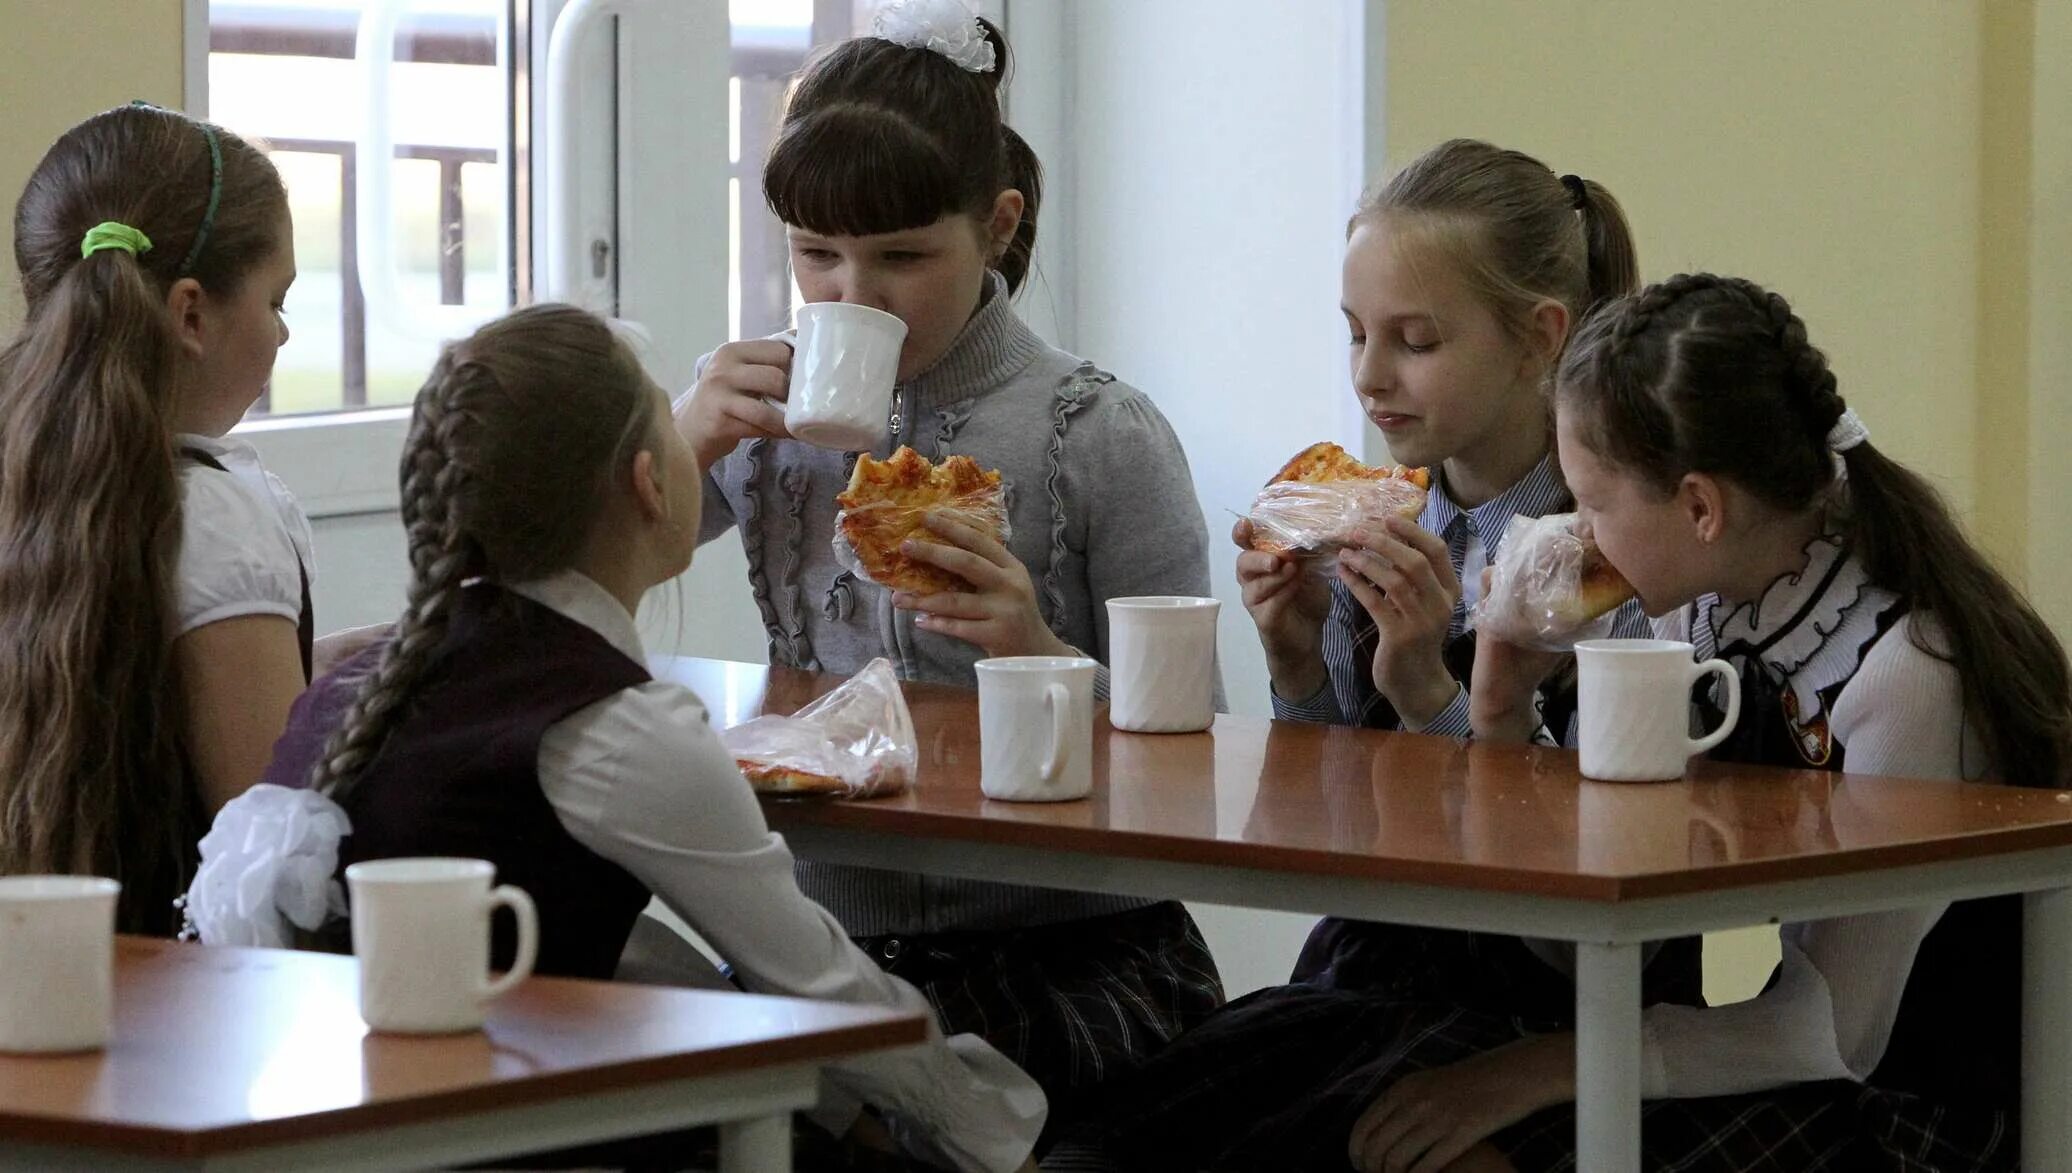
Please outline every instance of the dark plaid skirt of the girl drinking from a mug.
[[1046, 1138], [1090, 1088], [1222, 1005], [1216, 960], [1177, 902], [1007, 933], [856, 943], [918, 986], [947, 1034], [984, 1038], [1042, 1086]]

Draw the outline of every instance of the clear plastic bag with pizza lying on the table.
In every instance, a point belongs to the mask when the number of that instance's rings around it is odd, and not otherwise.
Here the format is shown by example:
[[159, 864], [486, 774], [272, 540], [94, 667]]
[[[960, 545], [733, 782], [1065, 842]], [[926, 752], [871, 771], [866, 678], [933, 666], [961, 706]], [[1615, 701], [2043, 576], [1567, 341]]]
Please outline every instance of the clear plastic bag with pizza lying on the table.
[[899, 794], [920, 765], [914, 715], [887, 659], [789, 717], [754, 717], [719, 742], [756, 794], [785, 798]]

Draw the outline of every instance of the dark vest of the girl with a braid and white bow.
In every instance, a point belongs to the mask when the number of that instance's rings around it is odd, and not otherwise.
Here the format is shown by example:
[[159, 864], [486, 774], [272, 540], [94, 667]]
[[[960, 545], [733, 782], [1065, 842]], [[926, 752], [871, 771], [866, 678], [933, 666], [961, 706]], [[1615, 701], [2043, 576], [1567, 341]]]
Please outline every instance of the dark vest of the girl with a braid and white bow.
[[[369, 649], [296, 700], [265, 781], [307, 783], [377, 657]], [[646, 680], [591, 628], [499, 586], [466, 586], [425, 684], [344, 796], [352, 833], [340, 875], [396, 856], [489, 860], [497, 883], [539, 906], [537, 972], [609, 978], [649, 891], [562, 827], [539, 785], [539, 744], [564, 717]], [[514, 951], [497, 916], [493, 964], [508, 968]]]

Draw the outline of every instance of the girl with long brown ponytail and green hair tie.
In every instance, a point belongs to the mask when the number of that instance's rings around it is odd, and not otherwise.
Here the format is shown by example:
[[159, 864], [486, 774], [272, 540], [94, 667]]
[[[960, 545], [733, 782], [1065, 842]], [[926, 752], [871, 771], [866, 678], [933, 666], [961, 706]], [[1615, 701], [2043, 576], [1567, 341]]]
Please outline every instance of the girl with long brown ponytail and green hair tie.
[[15, 207], [0, 352], [0, 872], [122, 881], [170, 933], [209, 814], [259, 781], [313, 657], [309, 522], [226, 435], [288, 338], [288, 195], [153, 106], [60, 137]]

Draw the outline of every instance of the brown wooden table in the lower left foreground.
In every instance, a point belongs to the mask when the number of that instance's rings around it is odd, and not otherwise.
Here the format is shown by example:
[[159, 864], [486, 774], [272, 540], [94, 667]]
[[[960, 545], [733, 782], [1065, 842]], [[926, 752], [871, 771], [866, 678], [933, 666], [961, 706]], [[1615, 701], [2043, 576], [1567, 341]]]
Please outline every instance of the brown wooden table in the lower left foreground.
[[358, 964], [116, 941], [102, 1053], [0, 1057], [0, 1169], [427, 1169], [721, 1125], [789, 1169], [825, 1063], [926, 1038], [874, 1007], [533, 978], [481, 1032], [369, 1034]]

